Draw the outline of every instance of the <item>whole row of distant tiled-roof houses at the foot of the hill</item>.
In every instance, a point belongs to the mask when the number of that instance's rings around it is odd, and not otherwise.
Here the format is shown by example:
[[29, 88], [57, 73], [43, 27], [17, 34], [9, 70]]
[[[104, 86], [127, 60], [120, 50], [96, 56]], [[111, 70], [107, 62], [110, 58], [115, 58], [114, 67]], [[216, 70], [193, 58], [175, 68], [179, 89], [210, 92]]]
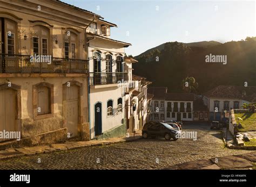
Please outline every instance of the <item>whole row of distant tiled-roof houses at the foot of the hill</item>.
[[219, 85], [203, 95], [172, 93], [167, 87], [149, 87], [153, 94], [151, 120], [221, 121], [225, 110], [256, 102], [256, 87]]

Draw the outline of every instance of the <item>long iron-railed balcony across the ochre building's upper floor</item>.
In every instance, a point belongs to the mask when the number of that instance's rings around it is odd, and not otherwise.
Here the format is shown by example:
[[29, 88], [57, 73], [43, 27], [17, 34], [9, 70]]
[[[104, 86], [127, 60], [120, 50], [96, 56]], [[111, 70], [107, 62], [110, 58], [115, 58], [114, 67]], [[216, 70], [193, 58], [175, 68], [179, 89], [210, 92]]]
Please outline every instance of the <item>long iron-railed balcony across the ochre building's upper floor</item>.
[[30, 55], [0, 54], [0, 73], [88, 73], [88, 61], [49, 57], [47, 62], [31, 62]]

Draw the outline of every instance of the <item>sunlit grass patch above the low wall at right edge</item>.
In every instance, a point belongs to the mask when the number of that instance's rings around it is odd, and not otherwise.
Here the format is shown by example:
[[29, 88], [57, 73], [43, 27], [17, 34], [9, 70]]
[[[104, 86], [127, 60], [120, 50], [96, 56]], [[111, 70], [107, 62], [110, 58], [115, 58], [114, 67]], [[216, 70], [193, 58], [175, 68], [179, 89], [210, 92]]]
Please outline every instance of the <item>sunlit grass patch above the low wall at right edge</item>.
[[[242, 120], [239, 120], [238, 117]], [[235, 113], [235, 120], [237, 121], [237, 124], [240, 123], [243, 127], [239, 129], [240, 132], [256, 130], [256, 113]]]

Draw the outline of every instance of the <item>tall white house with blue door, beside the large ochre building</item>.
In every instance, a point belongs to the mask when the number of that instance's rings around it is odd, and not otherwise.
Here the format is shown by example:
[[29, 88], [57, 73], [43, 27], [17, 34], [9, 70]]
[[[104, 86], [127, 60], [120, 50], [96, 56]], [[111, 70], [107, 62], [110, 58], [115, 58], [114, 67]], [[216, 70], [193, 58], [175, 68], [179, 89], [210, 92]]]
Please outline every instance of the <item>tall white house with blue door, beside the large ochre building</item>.
[[111, 27], [117, 25], [99, 18], [87, 28], [90, 133], [97, 139], [126, 134], [125, 91], [131, 74], [124, 56], [131, 44], [111, 39]]

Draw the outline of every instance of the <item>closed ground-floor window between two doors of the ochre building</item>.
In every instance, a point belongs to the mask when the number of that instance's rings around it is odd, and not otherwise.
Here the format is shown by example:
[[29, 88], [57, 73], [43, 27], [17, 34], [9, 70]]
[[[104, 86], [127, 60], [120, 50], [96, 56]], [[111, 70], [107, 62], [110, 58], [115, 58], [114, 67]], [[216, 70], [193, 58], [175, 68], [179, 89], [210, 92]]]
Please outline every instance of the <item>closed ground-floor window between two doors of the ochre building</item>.
[[33, 93], [34, 119], [53, 117], [53, 85], [46, 82], [33, 85]]

